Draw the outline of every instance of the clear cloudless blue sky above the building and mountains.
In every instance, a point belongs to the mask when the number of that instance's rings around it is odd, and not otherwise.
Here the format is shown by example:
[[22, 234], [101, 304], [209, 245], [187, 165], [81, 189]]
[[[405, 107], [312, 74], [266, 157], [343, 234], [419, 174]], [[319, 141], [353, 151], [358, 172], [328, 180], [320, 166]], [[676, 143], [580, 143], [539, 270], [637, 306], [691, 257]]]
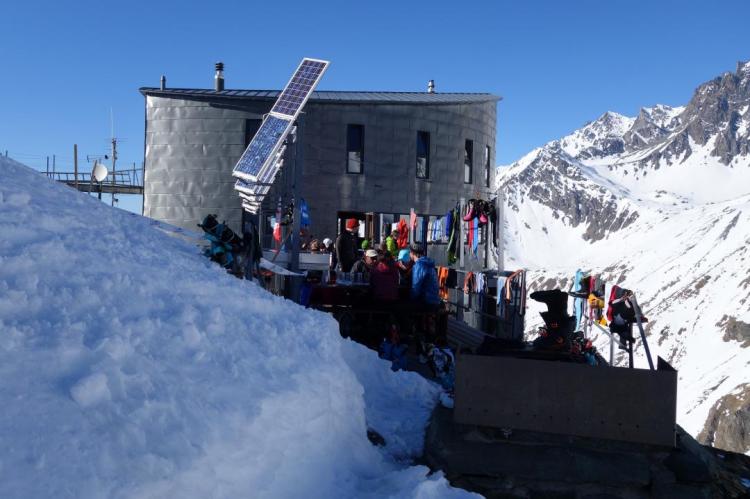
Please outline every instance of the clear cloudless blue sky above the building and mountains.
[[[0, 151], [58, 169], [109, 147], [143, 159], [138, 87], [279, 88], [304, 56], [320, 89], [493, 92], [498, 163], [607, 110], [686, 103], [750, 59], [750, 2], [13, 1], [0, 27]], [[85, 159], [84, 159], [85, 161]], [[126, 203], [127, 204], [127, 203]], [[138, 203], [138, 207], [140, 204]]]

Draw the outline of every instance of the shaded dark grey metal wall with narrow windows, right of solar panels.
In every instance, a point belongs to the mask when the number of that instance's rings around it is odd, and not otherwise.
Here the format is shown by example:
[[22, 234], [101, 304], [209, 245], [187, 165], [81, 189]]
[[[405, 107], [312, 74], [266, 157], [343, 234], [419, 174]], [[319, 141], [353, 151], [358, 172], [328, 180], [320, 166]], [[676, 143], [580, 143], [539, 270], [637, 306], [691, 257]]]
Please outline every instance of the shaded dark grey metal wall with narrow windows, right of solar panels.
[[[484, 150], [490, 146], [490, 186], [495, 182], [496, 103], [385, 105], [308, 103], [301, 195], [311, 233], [335, 237], [338, 211], [442, 215], [460, 197], [486, 198]], [[362, 174], [346, 173], [347, 124], [364, 125]], [[416, 176], [417, 132], [430, 132], [430, 178]], [[473, 183], [464, 184], [464, 144], [474, 141]], [[283, 183], [277, 182], [281, 186]], [[275, 194], [281, 193], [275, 190]], [[283, 193], [282, 193], [283, 194]], [[264, 210], [275, 211], [276, 196]]]

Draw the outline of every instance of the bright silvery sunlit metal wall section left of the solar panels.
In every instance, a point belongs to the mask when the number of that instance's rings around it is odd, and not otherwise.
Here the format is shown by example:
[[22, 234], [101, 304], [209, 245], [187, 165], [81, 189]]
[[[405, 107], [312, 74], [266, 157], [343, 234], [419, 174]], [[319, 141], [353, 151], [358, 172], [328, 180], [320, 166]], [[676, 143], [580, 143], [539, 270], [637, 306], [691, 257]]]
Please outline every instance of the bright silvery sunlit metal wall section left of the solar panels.
[[265, 105], [256, 107], [147, 96], [143, 214], [195, 229], [216, 213], [238, 228], [232, 168], [245, 150], [247, 120], [262, 117]]

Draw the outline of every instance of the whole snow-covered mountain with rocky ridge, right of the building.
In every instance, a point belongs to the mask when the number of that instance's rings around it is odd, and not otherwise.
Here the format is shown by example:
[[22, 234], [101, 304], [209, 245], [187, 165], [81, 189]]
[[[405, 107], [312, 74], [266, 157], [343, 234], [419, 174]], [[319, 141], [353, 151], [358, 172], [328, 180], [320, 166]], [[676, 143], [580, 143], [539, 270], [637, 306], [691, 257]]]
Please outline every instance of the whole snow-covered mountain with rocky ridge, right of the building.
[[568, 289], [580, 268], [636, 291], [652, 350], [680, 371], [678, 421], [750, 451], [750, 63], [684, 107], [604, 113], [498, 177], [506, 267], [536, 287]]

